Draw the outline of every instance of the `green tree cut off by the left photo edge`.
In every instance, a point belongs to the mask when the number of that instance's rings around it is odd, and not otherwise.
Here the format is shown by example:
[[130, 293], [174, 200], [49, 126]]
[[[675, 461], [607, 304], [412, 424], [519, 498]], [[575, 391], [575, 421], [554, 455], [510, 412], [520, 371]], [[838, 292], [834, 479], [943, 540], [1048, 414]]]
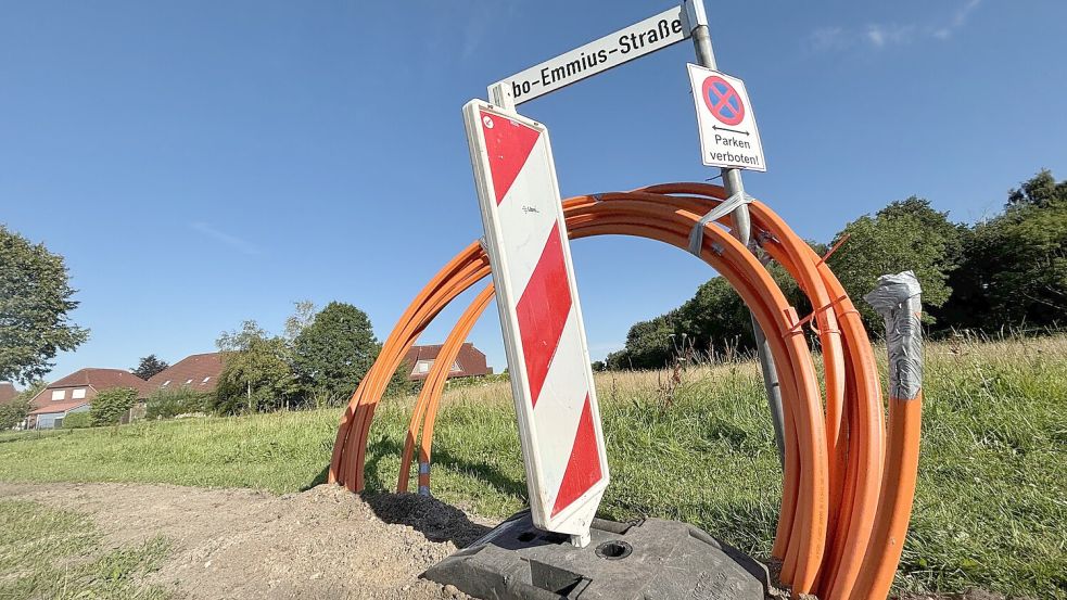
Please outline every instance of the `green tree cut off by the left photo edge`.
[[62, 256], [0, 225], [0, 381], [39, 379], [89, 339], [67, 317], [74, 294]]

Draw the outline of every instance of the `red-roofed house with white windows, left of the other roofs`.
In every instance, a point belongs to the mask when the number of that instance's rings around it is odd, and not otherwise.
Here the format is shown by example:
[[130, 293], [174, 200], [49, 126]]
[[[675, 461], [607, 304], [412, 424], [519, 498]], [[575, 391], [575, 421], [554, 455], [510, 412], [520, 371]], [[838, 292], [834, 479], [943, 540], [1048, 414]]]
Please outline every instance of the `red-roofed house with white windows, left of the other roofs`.
[[81, 369], [52, 382], [29, 401], [29, 427], [47, 430], [63, 426], [72, 412], [89, 410], [97, 394], [115, 387], [132, 387], [138, 397], [149, 394], [148, 382], [122, 369]]

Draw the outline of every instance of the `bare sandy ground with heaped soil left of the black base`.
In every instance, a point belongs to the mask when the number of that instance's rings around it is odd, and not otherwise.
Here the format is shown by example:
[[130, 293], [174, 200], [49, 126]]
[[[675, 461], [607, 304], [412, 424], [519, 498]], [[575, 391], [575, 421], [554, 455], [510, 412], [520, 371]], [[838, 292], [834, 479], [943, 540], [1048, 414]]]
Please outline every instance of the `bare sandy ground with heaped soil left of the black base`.
[[321, 485], [274, 496], [170, 485], [0, 483], [93, 516], [104, 550], [164, 535], [175, 553], [147, 583], [189, 599], [468, 598], [418, 576], [488, 524], [419, 496], [366, 499]]

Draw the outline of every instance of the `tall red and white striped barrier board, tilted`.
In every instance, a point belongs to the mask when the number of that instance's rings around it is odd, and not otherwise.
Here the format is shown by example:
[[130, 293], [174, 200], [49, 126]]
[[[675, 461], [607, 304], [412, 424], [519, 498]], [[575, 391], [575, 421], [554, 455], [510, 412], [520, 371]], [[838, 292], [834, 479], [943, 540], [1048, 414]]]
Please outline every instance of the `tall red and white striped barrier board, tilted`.
[[608, 462], [548, 130], [480, 100], [463, 118], [534, 524], [581, 541]]

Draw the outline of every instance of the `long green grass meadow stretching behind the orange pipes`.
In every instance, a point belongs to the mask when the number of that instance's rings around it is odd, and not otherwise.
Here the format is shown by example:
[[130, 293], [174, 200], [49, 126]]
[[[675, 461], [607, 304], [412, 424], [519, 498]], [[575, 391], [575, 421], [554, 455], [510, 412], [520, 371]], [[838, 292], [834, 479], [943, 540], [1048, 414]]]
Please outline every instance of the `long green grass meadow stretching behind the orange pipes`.
[[[879, 350], [881, 354], [884, 350]], [[687, 521], [766, 556], [780, 472], [753, 363], [606, 373], [598, 391], [612, 484], [601, 514]], [[1067, 337], [931, 344], [918, 490], [898, 590], [980, 587], [1067, 599]], [[410, 399], [379, 408], [368, 488], [395, 485]], [[289, 493], [323, 481], [333, 410], [0, 437], [0, 480], [164, 482]], [[491, 518], [524, 505], [504, 383], [443, 403], [433, 493]]]

